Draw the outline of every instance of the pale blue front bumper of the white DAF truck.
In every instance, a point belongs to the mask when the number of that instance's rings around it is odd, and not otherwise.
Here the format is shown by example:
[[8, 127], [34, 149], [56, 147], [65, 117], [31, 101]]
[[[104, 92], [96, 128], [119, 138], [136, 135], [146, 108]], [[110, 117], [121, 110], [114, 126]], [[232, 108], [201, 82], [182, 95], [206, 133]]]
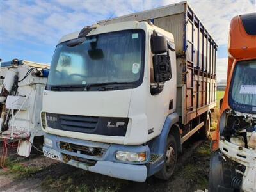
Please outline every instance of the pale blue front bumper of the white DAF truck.
[[[45, 134], [45, 137], [52, 140], [52, 147], [44, 144], [43, 150], [46, 157], [57, 159], [63, 163], [76, 166], [77, 168], [108, 175], [110, 177], [132, 180], [136, 182], [144, 182], [147, 179], [148, 173], [150, 172], [150, 170], [148, 170], [148, 164], [150, 163], [150, 149], [147, 145], [127, 146], [97, 143], [88, 140], [64, 138], [60, 136], [54, 136], [52, 134]], [[72, 143], [82, 147], [86, 146], [102, 148], [104, 149], [104, 153], [102, 156], [92, 156], [84, 154], [81, 151], [74, 152], [71, 150], [63, 150], [63, 148], [60, 147], [60, 143], [62, 142]], [[115, 153], [118, 150], [129, 152], [146, 152], [147, 160], [142, 163], [118, 161], [115, 158]], [[74, 158], [67, 160], [67, 156], [72, 156]], [[93, 163], [84, 162], [83, 160], [88, 160]]]

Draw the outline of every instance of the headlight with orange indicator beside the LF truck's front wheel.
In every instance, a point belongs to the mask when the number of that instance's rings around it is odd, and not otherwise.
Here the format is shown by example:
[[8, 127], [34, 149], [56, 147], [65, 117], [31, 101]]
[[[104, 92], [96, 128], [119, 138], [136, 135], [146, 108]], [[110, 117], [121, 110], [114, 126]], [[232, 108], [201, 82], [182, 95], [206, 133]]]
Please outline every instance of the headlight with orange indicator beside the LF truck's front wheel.
[[117, 151], [116, 159], [120, 161], [143, 162], [143, 161], [146, 161], [147, 155], [146, 155], [146, 152], [134, 153], [134, 152]]

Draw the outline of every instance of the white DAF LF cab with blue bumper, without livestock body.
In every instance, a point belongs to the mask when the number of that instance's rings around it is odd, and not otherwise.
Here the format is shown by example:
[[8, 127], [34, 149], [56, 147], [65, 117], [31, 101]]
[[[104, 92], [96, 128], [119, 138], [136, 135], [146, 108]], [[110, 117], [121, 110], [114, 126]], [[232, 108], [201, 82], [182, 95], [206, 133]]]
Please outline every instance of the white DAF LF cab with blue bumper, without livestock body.
[[[86, 37], [84, 31], [90, 31]], [[163, 161], [159, 148], [154, 154], [154, 142], [148, 142], [159, 136], [168, 115], [172, 124], [179, 121], [174, 47], [171, 33], [147, 22], [64, 36], [44, 90], [44, 154], [92, 172], [144, 181], [152, 172], [145, 164]]]

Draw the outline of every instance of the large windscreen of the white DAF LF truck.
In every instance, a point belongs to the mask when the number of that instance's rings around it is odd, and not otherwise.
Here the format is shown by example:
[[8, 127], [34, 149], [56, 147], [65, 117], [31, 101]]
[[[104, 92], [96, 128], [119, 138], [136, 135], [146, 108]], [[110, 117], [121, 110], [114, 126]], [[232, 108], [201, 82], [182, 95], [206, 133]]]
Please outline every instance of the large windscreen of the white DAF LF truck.
[[56, 86], [125, 83], [143, 78], [145, 33], [125, 30], [77, 38], [57, 45], [47, 89]]

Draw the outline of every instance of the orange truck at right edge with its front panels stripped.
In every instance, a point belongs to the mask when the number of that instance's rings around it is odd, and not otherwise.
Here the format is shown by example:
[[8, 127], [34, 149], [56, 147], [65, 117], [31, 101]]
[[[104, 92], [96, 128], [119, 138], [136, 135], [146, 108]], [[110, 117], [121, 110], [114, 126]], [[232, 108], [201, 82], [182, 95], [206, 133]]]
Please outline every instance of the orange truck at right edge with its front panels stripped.
[[230, 24], [228, 81], [212, 135], [209, 191], [256, 191], [256, 13]]

